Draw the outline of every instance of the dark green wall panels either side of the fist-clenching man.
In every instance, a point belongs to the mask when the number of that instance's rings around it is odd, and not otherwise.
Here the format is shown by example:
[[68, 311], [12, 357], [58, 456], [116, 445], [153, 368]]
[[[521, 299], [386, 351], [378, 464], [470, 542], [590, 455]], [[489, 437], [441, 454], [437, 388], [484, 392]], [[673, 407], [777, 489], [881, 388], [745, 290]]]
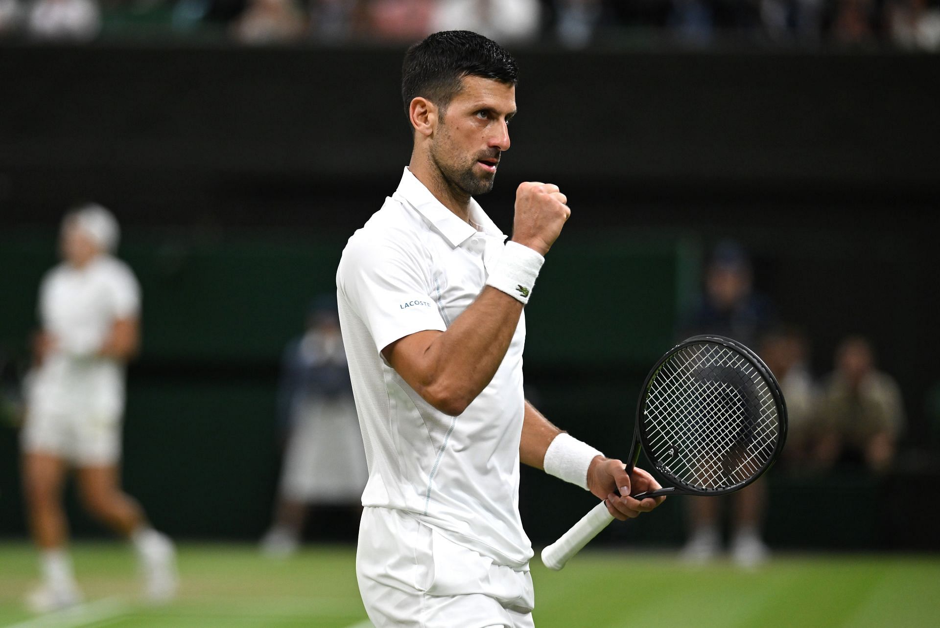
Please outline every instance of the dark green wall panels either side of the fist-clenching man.
[[[8, 269], [0, 274], [0, 345], [21, 364], [39, 278], [55, 261], [52, 235], [0, 237], [0, 268]], [[144, 345], [129, 371], [124, 472], [160, 526], [244, 537], [267, 523], [278, 360], [312, 296], [335, 290], [342, 245], [126, 237], [121, 253], [143, 289]], [[694, 243], [668, 237], [559, 242], [527, 309], [530, 395], [575, 434], [609, 440], [614, 424], [626, 442], [619, 427], [633, 411], [633, 389], [671, 344], [696, 264]], [[584, 376], [598, 368], [607, 376]], [[557, 374], [570, 375], [558, 386]], [[22, 529], [23, 515], [13, 431], [0, 429], [0, 532], [9, 532]], [[96, 529], [82, 516], [77, 528]]]

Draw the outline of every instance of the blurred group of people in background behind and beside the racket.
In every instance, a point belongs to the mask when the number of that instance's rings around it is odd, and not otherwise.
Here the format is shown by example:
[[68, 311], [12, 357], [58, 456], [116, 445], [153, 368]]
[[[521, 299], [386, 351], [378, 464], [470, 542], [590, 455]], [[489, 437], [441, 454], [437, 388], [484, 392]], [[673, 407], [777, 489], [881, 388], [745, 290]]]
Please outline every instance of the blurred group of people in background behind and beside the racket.
[[791, 471], [844, 466], [877, 474], [891, 467], [906, 419], [898, 384], [878, 370], [870, 340], [846, 335], [831, 371], [814, 377], [810, 339], [781, 321], [772, 300], [754, 289], [750, 260], [737, 244], [715, 248], [701, 299], [682, 327], [740, 340], [766, 361], [787, 402], [784, 465]]

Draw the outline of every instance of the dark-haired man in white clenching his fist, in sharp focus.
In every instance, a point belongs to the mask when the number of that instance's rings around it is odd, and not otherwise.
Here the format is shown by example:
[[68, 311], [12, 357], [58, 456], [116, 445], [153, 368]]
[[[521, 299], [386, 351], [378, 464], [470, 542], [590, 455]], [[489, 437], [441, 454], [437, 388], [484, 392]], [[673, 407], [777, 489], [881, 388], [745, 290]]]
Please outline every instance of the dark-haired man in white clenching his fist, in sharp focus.
[[409, 49], [411, 162], [337, 270], [369, 470], [356, 569], [380, 628], [533, 625], [520, 462], [605, 499], [619, 519], [660, 501], [630, 498], [659, 484], [627, 475], [523, 396], [523, 310], [571, 212], [556, 185], [523, 183], [505, 242], [473, 198], [492, 189], [509, 149], [516, 71], [499, 45], [466, 31]]

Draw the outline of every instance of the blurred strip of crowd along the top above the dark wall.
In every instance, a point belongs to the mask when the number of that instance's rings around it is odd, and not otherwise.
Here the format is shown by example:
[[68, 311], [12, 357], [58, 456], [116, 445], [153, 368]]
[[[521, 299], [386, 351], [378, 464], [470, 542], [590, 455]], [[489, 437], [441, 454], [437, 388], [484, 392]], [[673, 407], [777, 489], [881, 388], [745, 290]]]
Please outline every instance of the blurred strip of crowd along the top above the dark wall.
[[243, 44], [415, 41], [473, 30], [507, 45], [723, 44], [940, 50], [940, 0], [0, 0], [0, 38], [154, 34]]

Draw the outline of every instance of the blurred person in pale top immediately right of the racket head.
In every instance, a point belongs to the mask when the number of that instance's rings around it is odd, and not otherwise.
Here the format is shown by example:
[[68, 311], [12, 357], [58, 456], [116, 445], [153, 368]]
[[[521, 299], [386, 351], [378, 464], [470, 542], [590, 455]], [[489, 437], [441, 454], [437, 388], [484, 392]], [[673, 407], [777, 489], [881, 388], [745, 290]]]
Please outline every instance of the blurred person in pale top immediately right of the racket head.
[[807, 369], [807, 354], [806, 336], [796, 329], [772, 331], [760, 346], [760, 358], [776, 376], [787, 404], [788, 433], [783, 456], [793, 470], [807, 461], [817, 399]]

